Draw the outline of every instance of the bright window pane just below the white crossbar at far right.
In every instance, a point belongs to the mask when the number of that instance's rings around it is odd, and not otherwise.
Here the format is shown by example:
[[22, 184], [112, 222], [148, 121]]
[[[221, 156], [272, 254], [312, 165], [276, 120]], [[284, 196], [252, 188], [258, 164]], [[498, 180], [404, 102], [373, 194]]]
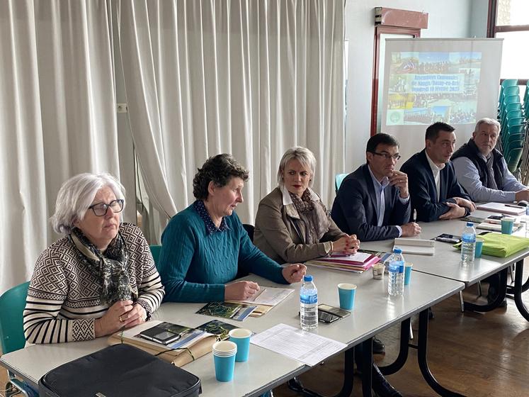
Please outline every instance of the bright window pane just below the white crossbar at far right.
[[502, 79], [529, 79], [529, 30], [523, 32], [496, 33], [496, 38], [504, 39], [501, 55]]

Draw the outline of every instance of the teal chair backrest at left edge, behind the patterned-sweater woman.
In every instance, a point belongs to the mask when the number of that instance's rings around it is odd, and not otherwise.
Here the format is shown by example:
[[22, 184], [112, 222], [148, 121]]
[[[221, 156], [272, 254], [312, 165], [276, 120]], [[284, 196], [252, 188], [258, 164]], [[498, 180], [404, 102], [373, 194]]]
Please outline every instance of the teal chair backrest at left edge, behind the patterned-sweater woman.
[[0, 296], [0, 345], [3, 353], [14, 352], [25, 346], [22, 315], [28, 286], [29, 281], [14, 286]]

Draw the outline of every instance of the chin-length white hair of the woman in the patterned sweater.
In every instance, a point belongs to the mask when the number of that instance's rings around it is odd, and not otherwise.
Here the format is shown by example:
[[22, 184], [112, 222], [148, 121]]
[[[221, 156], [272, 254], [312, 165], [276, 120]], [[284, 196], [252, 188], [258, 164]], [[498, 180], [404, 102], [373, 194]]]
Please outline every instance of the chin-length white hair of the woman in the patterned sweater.
[[84, 218], [97, 192], [106, 186], [112, 189], [115, 198], [125, 200], [125, 188], [118, 179], [107, 172], [86, 172], [65, 181], [55, 201], [55, 213], [51, 218], [53, 230], [57, 233], [71, 233], [76, 220]]

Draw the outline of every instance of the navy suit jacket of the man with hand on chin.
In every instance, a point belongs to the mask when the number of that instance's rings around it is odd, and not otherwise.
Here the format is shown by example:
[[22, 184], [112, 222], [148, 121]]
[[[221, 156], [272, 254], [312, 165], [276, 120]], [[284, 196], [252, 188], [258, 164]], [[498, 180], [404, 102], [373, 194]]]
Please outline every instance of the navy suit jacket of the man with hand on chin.
[[368, 164], [363, 164], [343, 179], [334, 199], [331, 217], [343, 232], [355, 234], [360, 241], [399, 237], [396, 225], [409, 222], [409, 201], [406, 204], [400, 201], [399, 189], [395, 186], [386, 186], [384, 196], [384, 220], [382, 226], [377, 226], [375, 186]]

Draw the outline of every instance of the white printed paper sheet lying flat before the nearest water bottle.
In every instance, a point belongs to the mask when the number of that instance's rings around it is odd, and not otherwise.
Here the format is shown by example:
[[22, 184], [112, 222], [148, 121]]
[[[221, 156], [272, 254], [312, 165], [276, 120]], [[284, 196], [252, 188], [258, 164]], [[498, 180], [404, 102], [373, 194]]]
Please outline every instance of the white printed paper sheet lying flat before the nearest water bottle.
[[251, 337], [251, 343], [311, 367], [347, 347], [345, 343], [286, 324], [278, 324], [259, 332]]

